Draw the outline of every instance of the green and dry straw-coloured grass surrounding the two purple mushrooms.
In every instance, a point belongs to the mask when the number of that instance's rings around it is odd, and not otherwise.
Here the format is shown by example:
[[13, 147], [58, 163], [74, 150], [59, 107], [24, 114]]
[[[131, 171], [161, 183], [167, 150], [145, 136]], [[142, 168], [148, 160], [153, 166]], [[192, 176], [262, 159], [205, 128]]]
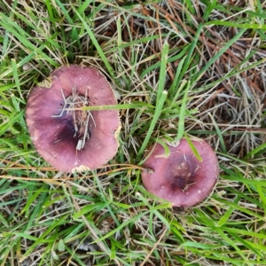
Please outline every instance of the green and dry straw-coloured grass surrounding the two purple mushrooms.
[[[0, 265], [266, 265], [265, 1], [70, 2], [0, 4]], [[66, 64], [120, 95], [119, 151], [82, 175], [36, 153], [24, 116]], [[141, 165], [184, 136], [215, 148], [220, 176], [179, 213]]]

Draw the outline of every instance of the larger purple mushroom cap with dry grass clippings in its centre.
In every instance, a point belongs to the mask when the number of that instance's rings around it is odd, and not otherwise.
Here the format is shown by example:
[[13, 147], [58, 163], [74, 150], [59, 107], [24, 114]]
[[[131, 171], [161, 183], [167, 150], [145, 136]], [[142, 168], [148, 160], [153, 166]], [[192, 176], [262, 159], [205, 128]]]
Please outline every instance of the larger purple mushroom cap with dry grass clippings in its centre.
[[27, 99], [27, 127], [37, 152], [65, 172], [106, 164], [118, 149], [119, 113], [82, 110], [117, 104], [106, 76], [93, 67], [72, 65], [58, 68], [47, 81]]

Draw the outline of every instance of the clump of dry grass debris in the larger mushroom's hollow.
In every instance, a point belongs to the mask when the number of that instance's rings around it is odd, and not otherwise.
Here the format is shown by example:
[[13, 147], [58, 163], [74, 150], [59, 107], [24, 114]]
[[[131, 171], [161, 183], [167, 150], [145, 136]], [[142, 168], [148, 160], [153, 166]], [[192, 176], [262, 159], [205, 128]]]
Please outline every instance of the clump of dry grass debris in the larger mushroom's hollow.
[[87, 98], [87, 93], [85, 96], [78, 95], [75, 88], [73, 88], [72, 95], [67, 98], [65, 98], [63, 90], [61, 92], [64, 104], [61, 105], [60, 113], [54, 114], [52, 117], [66, 121], [66, 129], [70, 131], [76, 140], [76, 150], [80, 151], [84, 147], [86, 140], [90, 138], [91, 124], [96, 127], [90, 111], [81, 109], [89, 106], [90, 101]]

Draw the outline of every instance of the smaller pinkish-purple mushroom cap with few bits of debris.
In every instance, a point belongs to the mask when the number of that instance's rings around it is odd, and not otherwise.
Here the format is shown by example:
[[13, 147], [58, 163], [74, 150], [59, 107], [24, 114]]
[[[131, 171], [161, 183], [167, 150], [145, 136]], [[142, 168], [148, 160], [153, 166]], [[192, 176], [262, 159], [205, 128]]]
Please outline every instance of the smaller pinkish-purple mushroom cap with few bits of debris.
[[145, 160], [142, 180], [148, 192], [168, 200], [175, 207], [192, 207], [213, 191], [218, 176], [215, 152], [204, 140], [192, 140], [200, 153], [198, 160], [188, 142], [168, 145], [168, 157], [162, 145], [155, 144]]

